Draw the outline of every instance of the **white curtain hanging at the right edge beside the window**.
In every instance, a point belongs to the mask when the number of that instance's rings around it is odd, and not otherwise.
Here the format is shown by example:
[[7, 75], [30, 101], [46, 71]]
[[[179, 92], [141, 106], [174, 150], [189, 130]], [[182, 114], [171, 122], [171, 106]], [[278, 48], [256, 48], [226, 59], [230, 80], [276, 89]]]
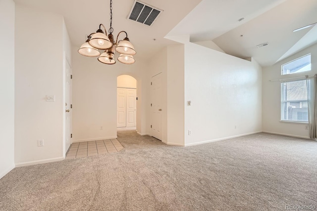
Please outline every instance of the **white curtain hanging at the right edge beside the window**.
[[308, 123], [310, 138], [317, 138], [317, 75], [309, 79], [306, 76], [308, 96]]

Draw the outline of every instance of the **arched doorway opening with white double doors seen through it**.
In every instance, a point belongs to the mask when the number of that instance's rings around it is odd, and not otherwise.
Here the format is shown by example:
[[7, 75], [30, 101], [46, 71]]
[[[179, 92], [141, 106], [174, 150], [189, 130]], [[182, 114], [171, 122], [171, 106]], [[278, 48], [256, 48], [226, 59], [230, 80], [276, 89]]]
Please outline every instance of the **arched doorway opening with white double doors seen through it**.
[[117, 77], [117, 127], [137, 126], [137, 80], [129, 75]]

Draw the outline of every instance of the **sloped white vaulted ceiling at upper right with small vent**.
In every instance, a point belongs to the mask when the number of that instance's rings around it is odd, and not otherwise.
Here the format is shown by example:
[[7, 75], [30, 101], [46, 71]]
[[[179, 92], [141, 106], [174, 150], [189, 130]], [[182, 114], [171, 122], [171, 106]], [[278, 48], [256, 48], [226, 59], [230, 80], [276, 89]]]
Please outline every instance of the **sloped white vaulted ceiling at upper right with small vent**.
[[316, 43], [317, 26], [293, 32], [315, 22], [317, 0], [203, 0], [168, 36], [213, 41], [230, 55], [269, 66]]

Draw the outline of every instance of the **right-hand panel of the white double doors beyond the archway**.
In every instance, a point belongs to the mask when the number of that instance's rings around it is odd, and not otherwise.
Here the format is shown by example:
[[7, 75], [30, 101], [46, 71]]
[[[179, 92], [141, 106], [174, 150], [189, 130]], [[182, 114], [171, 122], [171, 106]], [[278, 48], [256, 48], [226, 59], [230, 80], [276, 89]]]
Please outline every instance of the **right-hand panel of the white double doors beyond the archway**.
[[127, 101], [126, 101], [126, 108], [127, 108], [127, 127], [135, 127], [136, 126], [136, 97], [137, 97], [137, 91], [133, 88], [126, 88], [126, 95], [127, 95]]

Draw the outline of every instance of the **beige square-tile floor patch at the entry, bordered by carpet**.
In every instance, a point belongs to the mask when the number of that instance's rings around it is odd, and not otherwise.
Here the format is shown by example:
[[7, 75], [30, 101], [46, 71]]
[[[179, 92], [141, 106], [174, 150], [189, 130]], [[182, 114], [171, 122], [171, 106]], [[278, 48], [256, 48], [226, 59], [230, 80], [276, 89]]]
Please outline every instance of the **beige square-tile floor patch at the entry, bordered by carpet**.
[[113, 153], [123, 148], [117, 139], [73, 143], [66, 154], [66, 159]]

